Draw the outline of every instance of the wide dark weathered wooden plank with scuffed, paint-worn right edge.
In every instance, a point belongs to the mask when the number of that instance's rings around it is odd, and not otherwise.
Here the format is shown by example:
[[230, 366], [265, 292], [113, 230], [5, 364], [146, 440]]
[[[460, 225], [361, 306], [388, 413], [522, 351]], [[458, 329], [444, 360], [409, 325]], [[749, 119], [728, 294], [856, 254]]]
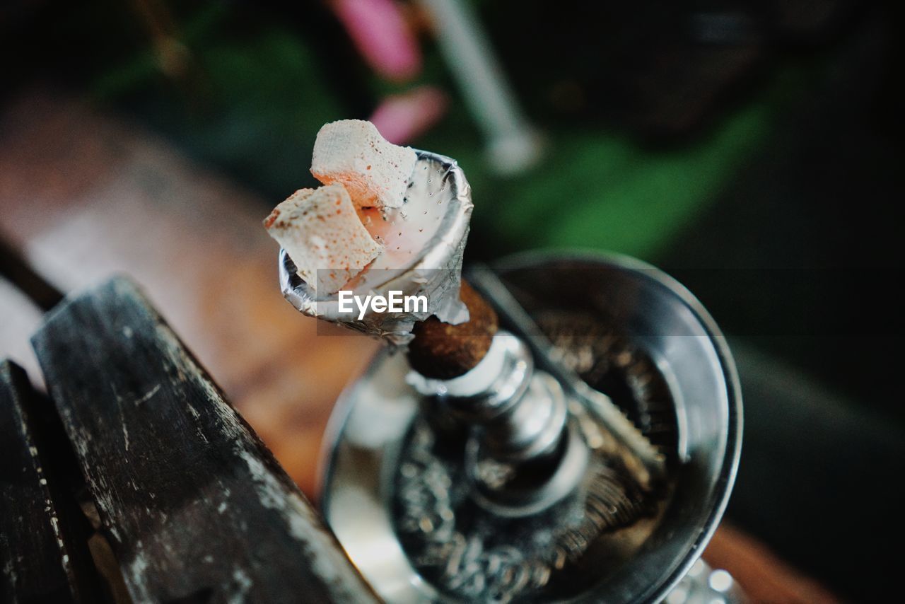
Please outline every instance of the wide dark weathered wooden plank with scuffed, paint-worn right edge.
[[132, 283], [63, 302], [33, 345], [134, 599], [374, 599]]

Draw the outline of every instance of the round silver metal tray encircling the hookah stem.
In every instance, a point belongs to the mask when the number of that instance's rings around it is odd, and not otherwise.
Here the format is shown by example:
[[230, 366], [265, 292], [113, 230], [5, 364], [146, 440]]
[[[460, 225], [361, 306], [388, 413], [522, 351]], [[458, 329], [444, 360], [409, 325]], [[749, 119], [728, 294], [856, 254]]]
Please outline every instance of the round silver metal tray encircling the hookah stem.
[[[444, 449], [446, 428], [407, 379], [405, 356], [384, 350], [330, 420], [327, 523], [389, 602], [663, 599], [698, 561], [738, 468], [741, 396], [724, 337], [690, 292], [625, 256], [522, 254], [493, 270], [551, 342], [550, 355], [609, 395], [662, 451], [668, 477], [655, 510], [583, 537], [564, 532], [588, 513], [580, 506], [511, 514], [481, 504], [457, 461], [467, 444], [453, 438]], [[570, 404], [570, 413], [586, 412]], [[551, 561], [563, 535], [580, 555]]]

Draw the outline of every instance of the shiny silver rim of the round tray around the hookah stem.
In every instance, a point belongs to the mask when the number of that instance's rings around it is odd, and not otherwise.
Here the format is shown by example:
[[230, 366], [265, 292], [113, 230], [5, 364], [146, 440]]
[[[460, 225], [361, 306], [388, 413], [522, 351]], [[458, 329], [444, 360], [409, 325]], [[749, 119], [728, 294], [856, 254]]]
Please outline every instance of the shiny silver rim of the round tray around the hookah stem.
[[[545, 592], [545, 599], [664, 598], [710, 540], [738, 467], [741, 398], [723, 336], [679, 283], [623, 256], [529, 254], [496, 269], [513, 292], [528, 292], [519, 302], [529, 312], [597, 312], [615, 321], [669, 385], [678, 429], [672, 493], [643, 542], [619, 564], [588, 553], [577, 581], [581, 590]], [[402, 355], [381, 353], [341, 398], [327, 441], [322, 510], [381, 597], [450, 601], [415, 570], [395, 526], [400, 450], [424, 418], [423, 398], [406, 382], [407, 373]]]

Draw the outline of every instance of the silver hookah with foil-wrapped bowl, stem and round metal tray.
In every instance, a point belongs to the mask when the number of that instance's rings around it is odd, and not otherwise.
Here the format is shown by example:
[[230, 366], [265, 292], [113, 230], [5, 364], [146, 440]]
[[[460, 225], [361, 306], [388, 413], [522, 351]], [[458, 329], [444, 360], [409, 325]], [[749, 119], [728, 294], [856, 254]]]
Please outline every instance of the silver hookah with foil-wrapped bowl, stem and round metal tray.
[[281, 250], [300, 312], [391, 344], [326, 439], [321, 510], [349, 559], [388, 602], [741, 601], [699, 561], [741, 444], [716, 323], [620, 255], [462, 279], [471, 212], [455, 161], [416, 151], [405, 206], [375, 226], [387, 253], [349, 283], [429, 294], [427, 312], [345, 316]]

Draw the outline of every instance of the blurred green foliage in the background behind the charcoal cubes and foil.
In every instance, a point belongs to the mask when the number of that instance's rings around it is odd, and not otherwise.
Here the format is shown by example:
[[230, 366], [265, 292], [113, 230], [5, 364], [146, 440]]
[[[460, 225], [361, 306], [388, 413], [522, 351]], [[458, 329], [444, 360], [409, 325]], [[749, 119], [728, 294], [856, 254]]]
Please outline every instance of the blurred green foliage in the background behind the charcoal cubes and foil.
[[[131, 27], [139, 20], [128, 11], [119, 18]], [[105, 53], [116, 59], [92, 73], [90, 91], [273, 202], [314, 185], [307, 168], [320, 125], [367, 117], [329, 85], [344, 65], [322, 64], [318, 41], [304, 27], [224, 4], [181, 7], [173, 21], [173, 36], [187, 51], [180, 76], [165, 77], [145, 34], [144, 43], [120, 41], [123, 52]], [[453, 101], [443, 121], [414, 142], [457, 158], [465, 169], [482, 255], [577, 246], [655, 259], [757, 149], [775, 105], [775, 99], [748, 102], [699, 139], [663, 149], [600, 126], [553, 125], [543, 169], [500, 178], [484, 162], [481, 137], [455, 101], [442, 57], [428, 41], [425, 48], [418, 83], [442, 86]], [[402, 88], [366, 75], [372, 102]]]

